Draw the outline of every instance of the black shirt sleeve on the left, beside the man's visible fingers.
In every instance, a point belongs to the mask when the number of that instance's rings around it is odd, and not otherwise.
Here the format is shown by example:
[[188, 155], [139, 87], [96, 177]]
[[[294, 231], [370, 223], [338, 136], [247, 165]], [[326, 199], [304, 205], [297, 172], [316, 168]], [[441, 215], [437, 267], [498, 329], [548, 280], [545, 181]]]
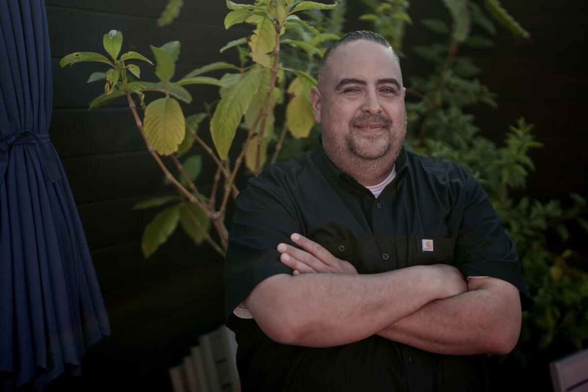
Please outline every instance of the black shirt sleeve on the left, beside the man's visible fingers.
[[249, 296], [262, 280], [292, 274], [279, 260], [279, 243], [292, 244], [301, 233], [296, 208], [279, 186], [249, 182], [236, 200], [229, 248], [225, 256], [225, 316]]

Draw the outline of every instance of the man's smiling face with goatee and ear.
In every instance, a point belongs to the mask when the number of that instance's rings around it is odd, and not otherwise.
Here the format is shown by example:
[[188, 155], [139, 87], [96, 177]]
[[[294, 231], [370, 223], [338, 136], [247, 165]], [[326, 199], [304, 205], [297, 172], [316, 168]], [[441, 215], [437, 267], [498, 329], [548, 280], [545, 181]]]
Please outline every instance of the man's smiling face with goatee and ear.
[[405, 88], [395, 56], [362, 39], [336, 48], [325, 71], [320, 91], [311, 92], [325, 152], [340, 169], [363, 161], [387, 163], [389, 173], [406, 133]]

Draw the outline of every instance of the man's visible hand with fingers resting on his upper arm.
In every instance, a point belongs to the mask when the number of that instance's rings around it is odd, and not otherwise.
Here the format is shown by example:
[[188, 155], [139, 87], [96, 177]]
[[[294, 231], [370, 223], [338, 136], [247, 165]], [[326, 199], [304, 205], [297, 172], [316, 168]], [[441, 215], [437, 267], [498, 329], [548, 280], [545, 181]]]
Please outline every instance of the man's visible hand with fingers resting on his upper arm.
[[333, 256], [318, 243], [296, 233], [292, 234], [290, 239], [302, 249], [280, 243], [278, 244], [278, 252], [282, 253], [280, 254], [280, 262], [293, 269], [294, 275], [317, 272], [358, 273], [351, 263]]

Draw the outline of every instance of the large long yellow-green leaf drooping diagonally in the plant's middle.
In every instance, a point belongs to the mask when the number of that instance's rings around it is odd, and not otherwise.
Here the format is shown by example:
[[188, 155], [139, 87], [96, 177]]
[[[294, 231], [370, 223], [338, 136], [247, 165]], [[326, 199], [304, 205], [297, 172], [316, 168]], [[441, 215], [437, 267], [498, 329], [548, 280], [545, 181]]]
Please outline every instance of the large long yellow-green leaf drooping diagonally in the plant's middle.
[[269, 69], [252, 69], [246, 72], [238, 83], [229, 88], [216, 106], [211, 120], [211, 134], [220, 159], [226, 159], [237, 126], [258, 91], [264, 72], [269, 72]]

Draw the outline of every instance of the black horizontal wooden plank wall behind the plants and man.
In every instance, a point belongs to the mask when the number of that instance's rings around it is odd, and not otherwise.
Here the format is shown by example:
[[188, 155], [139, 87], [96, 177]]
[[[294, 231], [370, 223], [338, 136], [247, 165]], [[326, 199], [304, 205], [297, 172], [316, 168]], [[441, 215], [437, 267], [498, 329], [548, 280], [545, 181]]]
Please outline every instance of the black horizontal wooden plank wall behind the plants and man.
[[[83, 376], [62, 378], [48, 391], [170, 390], [167, 368], [188, 353], [199, 334], [223, 322], [222, 262], [208, 246], [197, 249], [176, 233], [161, 252], [143, 260], [141, 234], [153, 211], [131, 207], [173, 190], [163, 185], [124, 99], [88, 111], [102, 86], [85, 81], [103, 68], [81, 63], [61, 69], [59, 59], [74, 51], [103, 52], [102, 35], [118, 29], [124, 35], [123, 52], [150, 58], [149, 44], [181, 41], [178, 76], [205, 63], [235, 61], [234, 53], [219, 55], [218, 49], [250, 30], [223, 28], [224, 3], [186, 0], [181, 17], [158, 28], [155, 21], [165, 0], [46, 0], [54, 75], [51, 138], [78, 204], [112, 324], [112, 336], [86, 354]], [[414, 0], [410, 12], [439, 15], [446, 12], [440, 4]], [[503, 5], [529, 30], [533, 42], [514, 41], [502, 31], [496, 48], [471, 51], [483, 68], [483, 82], [499, 95], [499, 111], [476, 112], [480, 125], [498, 141], [519, 116], [535, 123], [545, 147], [532, 153], [537, 172], [529, 179], [530, 195], [542, 200], [571, 191], [587, 195], [587, 6], [581, 0], [557, 6], [546, 0], [503, 0]], [[419, 25], [409, 28], [407, 46], [423, 36]], [[405, 75], [423, 69], [416, 55], [403, 64]], [[139, 65], [143, 79], [154, 80], [152, 67]], [[213, 88], [190, 91], [195, 103], [184, 106], [186, 114], [200, 111], [198, 102], [216, 99]], [[212, 173], [205, 172], [199, 185], [206, 189], [211, 180]]]

